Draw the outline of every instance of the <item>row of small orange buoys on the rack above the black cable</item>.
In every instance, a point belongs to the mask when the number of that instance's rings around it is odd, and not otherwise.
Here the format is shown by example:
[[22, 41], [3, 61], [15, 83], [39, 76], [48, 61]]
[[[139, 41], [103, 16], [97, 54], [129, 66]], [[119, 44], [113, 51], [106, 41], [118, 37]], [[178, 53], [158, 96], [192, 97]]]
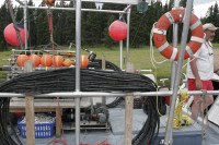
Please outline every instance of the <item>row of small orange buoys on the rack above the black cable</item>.
[[[19, 67], [24, 67], [24, 63], [30, 60], [33, 62], [33, 65], [36, 67], [54, 67], [54, 68], [61, 68], [61, 67], [70, 67], [74, 65], [74, 62], [66, 58], [64, 59], [62, 56], [50, 56], [50, 55], [43, 55], [42, 57], [37, 55], [19, 55], [16, 58], [16, 64]], [[81, 56], [81, 68], [87, 68], [89, 65], [89, 58], [85, 55]]]

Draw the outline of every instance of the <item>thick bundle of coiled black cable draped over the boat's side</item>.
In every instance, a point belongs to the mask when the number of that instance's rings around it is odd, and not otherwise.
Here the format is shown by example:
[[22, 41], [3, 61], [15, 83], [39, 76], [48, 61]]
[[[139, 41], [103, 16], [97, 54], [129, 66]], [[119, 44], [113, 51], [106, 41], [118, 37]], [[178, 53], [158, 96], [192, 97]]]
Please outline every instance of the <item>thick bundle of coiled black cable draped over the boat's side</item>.
[[[140, 74], [103, 71], [94, 69], [81, 69], [82, 92], [155, 92], [157, 85], [149, 77]], [[0, 85], [0, 92], [8, 93], [56, 93], [73, 92], [76, 88], [76, 69], [58, 69], [53, 71], [35, 71], [13, 77]], [[159, 130], [159, 114], [157, 112], [155, 97], [149, 97], [149, 114], [146, 124], [132, 140], [134, 145], [150, 143], [153, 140], [155, 129]], [[2, 145], [15, 145], [7, 129], [5, 118], [9, 113], [9, 98], [0, 98], [0, 137]], [[158, 133], [157, 130], [157, 133]]]

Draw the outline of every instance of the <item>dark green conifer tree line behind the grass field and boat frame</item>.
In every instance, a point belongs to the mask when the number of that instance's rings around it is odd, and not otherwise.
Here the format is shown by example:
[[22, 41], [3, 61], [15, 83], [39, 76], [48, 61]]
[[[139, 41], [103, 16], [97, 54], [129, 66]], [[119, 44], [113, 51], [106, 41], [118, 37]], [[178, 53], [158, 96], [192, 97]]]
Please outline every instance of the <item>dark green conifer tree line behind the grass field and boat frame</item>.
[[[30, 0], [28, 5], [35, 5]], [[44, 3], [42, 3], [43, 5]], [[186, 0], [181, 1], [181, 5], [185, 7]], [[130, 13], [130, 47], [138, 48], [140, 46], [148, 46], [150, 44], [150, 33], [153, 24], [160, 19], [162, 14], [170, 11], [173, 5], [173, 0], [168, 4], [161, 2], [151, 3], [146, 12], [140, 13], [136, 5], [131, 7]], [[73, 8], [74, 3], [56, 3], [56, 7]], [[83, 9], [95, 9], [93, 2], [82, 2]], [[124, 10], [124, 4], [111, 4], [105, 3], [104, 10]], [[14, 7], [14, 16], [18, 23], [22, 24], [23, 9], [21, 7]], [[53, 23], [48, 21], [48, 15], [53, 16]], [[119, 14], [113, 13], [101, 13], [101, 12], [84, 12], [81, 15], [81, 40], [83, 46], [104, 46], [113, 47], [117, 45], [116, 41], [112, 40], [108, 36], [108, 26], [119, 19]], [[124, 21], [126, 15], [123, 16]], [[219, 26], [219, 8], [216, 2], [208, 9], [205, 17], [201, 17], [201, 23], [214, 23]], [[49, 25], [53, 24], [53, 39], [60, 46], [69, 46], [70, 43], [76, 43], [76, 12], [65, 10], [39, 10], [28, 9], [27, 10], [27, 26], [28, 26], [28, 46], [37, 47], [41, 45], [49, 45], [50, 34]], [[0, 8], [0, 50], [7, 50], [9, 45], [5, 43], [3, 37], [3, 31], [8, 24], [12, 23], [12, 19], [9, 13], [7, 3], [4, 2]], [[180, 25], [178, 43], [181, 39], [182, 24]], [[168, 31], [168, 40], [172, 40], [172, 28]], [[215, 43], [219, 41], [219, 31], [215, 37]]]

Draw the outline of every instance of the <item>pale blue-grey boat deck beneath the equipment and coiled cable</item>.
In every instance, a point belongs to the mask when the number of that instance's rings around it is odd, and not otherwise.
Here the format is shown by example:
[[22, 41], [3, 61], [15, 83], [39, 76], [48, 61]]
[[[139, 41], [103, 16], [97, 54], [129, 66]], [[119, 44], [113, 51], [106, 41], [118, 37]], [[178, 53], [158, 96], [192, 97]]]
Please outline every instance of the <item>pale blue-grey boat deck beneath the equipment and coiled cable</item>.
[[[132, 122], [132, 135], [135, 136], [145, 123], [147, 116], [142, 109], [134, 110], [134, 122]], [[97, 145], [104, 142], [104, 145], [123, 145], [124, 144], [124, 120], [125, 109], [113, 108], [110, 109], [110, 123], [111, 129], [106, 130], [82, 130], [80, 135], [81, 145]], [[159, 145], [164, 138], [165, 121], [166, 116], [161, 117], [160, 132], [154, 141], [153, 145]], [[219, 132], [212, 130], [215, 128], [209, 122], [207, 130], [203, 131], [201, 124], [195, 123], [188, 126], [182, 126], [180, 130], [173, 130], [173, 145], [218, 145], [219, 144]], [[26, 140], [21, 137], [23, 144], [26, 144]], [[54, 140], [65, 141], [68, 145], [74, 144], [74, 131], [65, 130], [60, 138], [36, 138], [36, 145], [47, 145]], [[108, 144], [107, 144], [108, 143]], [[60, 143], [61, 144], [61, 143]], [[58, 145], [58, 143], [57, 143]]]

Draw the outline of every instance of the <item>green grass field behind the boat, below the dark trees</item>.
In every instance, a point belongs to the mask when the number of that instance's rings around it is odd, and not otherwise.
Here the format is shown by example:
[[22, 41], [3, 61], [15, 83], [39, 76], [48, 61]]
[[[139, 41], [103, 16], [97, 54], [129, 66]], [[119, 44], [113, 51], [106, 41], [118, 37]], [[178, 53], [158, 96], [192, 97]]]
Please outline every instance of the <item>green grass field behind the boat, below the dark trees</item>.
[[[215, 58], [219, 57], [219, 44], [214, 44], [215, 49]], [[107, 61], [111, 61], [115, 63], [116, 65], [119, 64], [119, 46], [116, 48], [105, 48], [105, 47], [96, 47], [96, 48], [89, 48], [90, 51], [93, 51], [96, 53], [96, 58], [101, 59], [103, 56]], [[81, 53], [87, 53], [85, 51], [81, 51]], [[88, 55], [88, 53], [87, 53]], [[123, 50], [123, 56], [125, 57], [126, 55], [126, 48]], [[11, 56], [11, 51], [3, 51], [0, 52], [0, 59], [3, 61], [0, 61], [0, 65], [8, 64], [5, 59], [9, 59]], [[162, 61], [165, 58], [162, 57], [158, 50], [154, 48], [154, 58], [157, 61]], [[141, 48], [130, 48], [129, 49], [129, 61], [134, 64], [136, 70], [149, 70], [152, 69], [152, 74], [154, 74], [158, 78], [158, 83], [160, 84], [159, 80], [160, 78], [171, 78], [171, 61], [165, 61], [164, 63], [161, 64], [155, 64], [155, 69], [151, 63], [151, 56], [150, 56], [150, 48], [149, 46], [141, 47]], [[186, 60], [184, 60], [184, 64], [186, 63]], [[124, 65], [124, 64], [123, 64]], [[182, 70], [182, 73], [185, 72], [186, 67]], [[5, 78], [5, 72], [0, 73], [0, 78]], [[168, 82], [170, 84], [170, 81]]]

